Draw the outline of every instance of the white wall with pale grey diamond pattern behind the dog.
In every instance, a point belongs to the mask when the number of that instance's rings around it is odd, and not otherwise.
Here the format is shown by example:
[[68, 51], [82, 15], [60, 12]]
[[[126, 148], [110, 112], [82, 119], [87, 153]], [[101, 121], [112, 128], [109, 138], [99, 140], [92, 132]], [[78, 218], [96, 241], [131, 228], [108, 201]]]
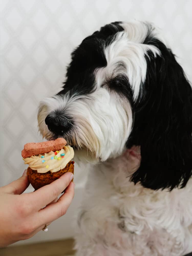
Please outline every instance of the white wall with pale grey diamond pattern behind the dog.
[[[39, 101], [58, 92], [70, 53], [82, 39], [114, 21], [147, 20], [163, 31], [192, 81], [192, 1], [1, 0], [1, 170], [0, 186], [26, 166], [21, 151], [37, 133]], [[88, 168], [75, 166], [76, 197], [69, 212], [27, 242], [73, 235]], [[27, 190], [31, 191], [31, 188]]]

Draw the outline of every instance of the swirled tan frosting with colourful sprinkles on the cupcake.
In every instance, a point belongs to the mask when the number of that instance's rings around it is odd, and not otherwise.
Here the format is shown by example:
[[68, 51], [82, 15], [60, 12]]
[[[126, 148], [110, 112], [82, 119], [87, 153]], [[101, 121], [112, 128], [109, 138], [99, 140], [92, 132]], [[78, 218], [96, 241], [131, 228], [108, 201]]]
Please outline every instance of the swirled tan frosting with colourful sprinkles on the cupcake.
[[[65, 154], [65, 156], [62, 158], [61, 154]], [[41, 158], [42, 155], [45, 157]], [[25, 164], [28, 164], [32, 170], [37, 170], [38, 173], [46, 173], [48, 171], [54, 173], [66, 167], [74, 157], [74, 151], [72, 147], [64, 146], [57, 154], [58, 158], [61, 157], [60, 160], [55, 158], [51, 159], [51, 157], [53, 158], [56, 156], [53, 151], [42, 155], [23, 158], [23, 160], [25, 161]], [[45, 160], [46, 162], [42, 163], [42, 160]]]

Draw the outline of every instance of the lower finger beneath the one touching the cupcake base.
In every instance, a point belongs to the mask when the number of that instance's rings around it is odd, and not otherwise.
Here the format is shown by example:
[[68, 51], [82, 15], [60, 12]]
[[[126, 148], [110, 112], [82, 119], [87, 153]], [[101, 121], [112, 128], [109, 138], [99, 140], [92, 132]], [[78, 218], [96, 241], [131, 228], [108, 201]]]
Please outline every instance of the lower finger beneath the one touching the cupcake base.
[[65, 215], [67, 209], [72, 202], [73, 197], [74, 183], [71, 182], [65, 190], [65, 193], [58, 199], [56, 203], [48, 205], [47, 207], [39, 211], [39, 220], [41, 220], [41, 222], [43, 220], [45, 223], [49, 223]]

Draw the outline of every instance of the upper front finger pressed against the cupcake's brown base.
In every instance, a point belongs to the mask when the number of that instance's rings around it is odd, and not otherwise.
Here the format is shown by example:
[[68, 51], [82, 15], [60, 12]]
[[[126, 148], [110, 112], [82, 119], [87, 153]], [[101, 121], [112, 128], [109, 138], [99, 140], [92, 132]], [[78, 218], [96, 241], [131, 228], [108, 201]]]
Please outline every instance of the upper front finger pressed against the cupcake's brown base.
[[34, 206], [35, 210], [40, 210], [45, 207], [66, 189], [72, 178], [73, 174], [67, 172], [51, 184], [29, 193], [28, 200], [30, 201], [30, 204]]

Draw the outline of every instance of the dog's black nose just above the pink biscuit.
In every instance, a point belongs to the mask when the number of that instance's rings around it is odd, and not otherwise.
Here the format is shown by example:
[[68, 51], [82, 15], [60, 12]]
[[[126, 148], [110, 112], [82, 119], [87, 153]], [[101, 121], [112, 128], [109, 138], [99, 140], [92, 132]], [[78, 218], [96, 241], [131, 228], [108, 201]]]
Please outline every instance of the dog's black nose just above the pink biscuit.
[[56, 113], [48, 114], [45, 123], [48, 126], [49, 131], [56, 135], [66, 133], [72, 126], [72, 122], [67, 117]]

